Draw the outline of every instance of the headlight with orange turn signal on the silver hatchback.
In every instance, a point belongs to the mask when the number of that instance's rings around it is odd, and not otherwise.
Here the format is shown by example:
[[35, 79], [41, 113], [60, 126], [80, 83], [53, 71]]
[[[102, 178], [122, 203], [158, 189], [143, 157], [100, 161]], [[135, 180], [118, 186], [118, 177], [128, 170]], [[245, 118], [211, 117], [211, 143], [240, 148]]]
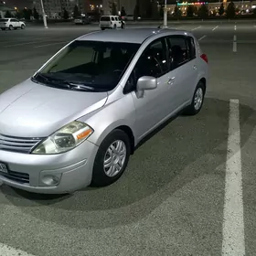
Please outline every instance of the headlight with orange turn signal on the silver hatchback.
[[93, 130], [89, 125], [74, 121], [48, 136], [46, 140], [37, 145], [32, 154], [54, 155], [67, 152], [84, 142], [92, 133]]

